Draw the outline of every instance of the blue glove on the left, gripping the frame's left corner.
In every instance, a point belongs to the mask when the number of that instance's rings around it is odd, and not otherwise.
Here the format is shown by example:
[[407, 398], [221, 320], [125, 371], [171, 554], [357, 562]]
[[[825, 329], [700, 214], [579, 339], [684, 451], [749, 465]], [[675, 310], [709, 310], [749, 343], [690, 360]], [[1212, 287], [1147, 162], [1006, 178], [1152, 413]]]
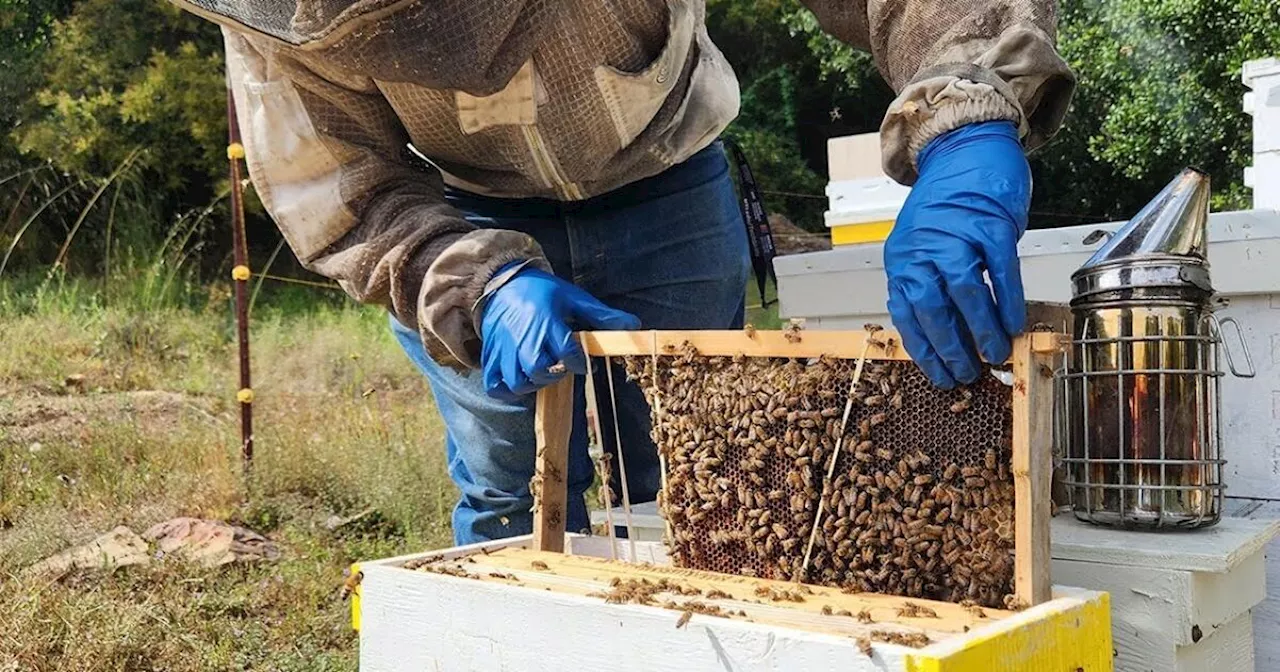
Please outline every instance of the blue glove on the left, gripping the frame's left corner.
[[498, 399], [513, 399], [559, 380], [564, 374], [549, 369], [561, 362], [571, 372], [586, 372], [586, 357], [571, 324], [586, 329], [640, 328], [635, 315], [613, 310], [580, 287], [527, 266], [494, 291], [481, 311], [480, 369], [485, 392]]

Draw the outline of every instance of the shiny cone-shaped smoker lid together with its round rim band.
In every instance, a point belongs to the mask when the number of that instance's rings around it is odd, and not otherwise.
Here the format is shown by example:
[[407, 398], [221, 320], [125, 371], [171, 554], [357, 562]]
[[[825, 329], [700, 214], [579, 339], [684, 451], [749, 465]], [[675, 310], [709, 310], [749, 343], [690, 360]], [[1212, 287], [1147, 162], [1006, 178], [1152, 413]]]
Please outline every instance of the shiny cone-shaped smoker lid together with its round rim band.
[[1071, 274], [1074, 296], [1178, 285], [1212, 292], [1206, 250], [1208, 196], [1208, 175], [1183, 169]]

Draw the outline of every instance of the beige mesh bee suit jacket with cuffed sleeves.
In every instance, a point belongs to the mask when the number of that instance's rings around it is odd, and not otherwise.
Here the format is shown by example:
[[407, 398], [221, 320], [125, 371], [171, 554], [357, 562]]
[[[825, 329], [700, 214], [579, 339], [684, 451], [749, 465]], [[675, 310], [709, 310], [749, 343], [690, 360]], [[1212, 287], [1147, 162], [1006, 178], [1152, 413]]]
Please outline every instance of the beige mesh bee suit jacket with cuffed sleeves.
[[[685, 160], [739, 109], [704, 0], [174, 1], [223, 26], [250, 175], [298, 259], [451, 366], [477, 362], [495, 269], [545, 260], [468, 224], [444, 184], [589, 198]], [[897, 91], [881, 131], [904, 183], [942, 132], [1007, 119], [1034, 148], [1066, 111], [1052, 1], [804, 3]]]

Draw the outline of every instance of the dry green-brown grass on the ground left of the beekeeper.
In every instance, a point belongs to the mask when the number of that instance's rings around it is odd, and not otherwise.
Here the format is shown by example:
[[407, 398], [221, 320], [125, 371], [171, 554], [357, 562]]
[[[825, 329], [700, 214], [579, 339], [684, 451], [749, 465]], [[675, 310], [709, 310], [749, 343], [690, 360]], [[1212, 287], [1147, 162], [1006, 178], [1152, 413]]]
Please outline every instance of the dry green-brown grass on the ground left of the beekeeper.
[[[102, 283], [0, 283], [0, 672], [356, 668], [343, 570], [448, 545], [456, 492], [384, 312], [314, 291], [302, 303], [285, 291], [255, 308], [244, 483], [225, 285], [178, 280], [143, 303]], [[750, 319], [776, 326], [776, 307]], [[366, 508], [369, 524], [325, 530]], [[174, 516], [244, 525], [282, 558], [18, 576]]]

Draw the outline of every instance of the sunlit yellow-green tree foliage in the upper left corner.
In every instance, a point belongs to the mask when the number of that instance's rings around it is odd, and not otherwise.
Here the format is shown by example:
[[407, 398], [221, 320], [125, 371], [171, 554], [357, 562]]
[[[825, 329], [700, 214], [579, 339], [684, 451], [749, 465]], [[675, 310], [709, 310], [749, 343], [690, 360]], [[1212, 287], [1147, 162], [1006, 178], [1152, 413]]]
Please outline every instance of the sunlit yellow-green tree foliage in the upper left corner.
[[45, 61], [38, 108], [14, 131], [23, 154], [105, 174], [142, 147], [157, 189], [207, 197], [227, 137], [216, 28], [168, 3], [84, 0], [55, 22]]

